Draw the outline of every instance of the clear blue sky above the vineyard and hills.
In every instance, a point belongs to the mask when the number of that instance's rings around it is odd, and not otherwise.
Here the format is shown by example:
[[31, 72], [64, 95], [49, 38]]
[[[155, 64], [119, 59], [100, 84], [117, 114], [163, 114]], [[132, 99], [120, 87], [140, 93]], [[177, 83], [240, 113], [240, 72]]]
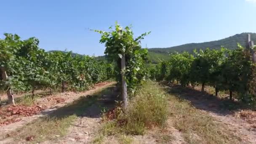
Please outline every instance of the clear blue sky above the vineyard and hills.
[[37, 37], [46, 51], [103, 55], [100, 35], [118, 21], [142, 46], [164, 48], [256, 32], [256, 0], [0, 0], [0, 38]]

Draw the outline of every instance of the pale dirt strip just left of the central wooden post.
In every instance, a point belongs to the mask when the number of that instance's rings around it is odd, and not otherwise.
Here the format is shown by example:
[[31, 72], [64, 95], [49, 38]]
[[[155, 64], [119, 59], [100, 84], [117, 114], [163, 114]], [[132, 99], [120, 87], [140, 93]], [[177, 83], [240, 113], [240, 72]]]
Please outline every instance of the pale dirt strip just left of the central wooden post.
[[117, 89], [111, 88], [110, 93], [101, 96], [97, 101], [88, 107], [83, 115], [69, 128], [68, 134], [55, 141], [45, 141], [43, 144], [88, 144], [92, 143], [97, 136], [101, 123], [101, 110], [115, 107]]

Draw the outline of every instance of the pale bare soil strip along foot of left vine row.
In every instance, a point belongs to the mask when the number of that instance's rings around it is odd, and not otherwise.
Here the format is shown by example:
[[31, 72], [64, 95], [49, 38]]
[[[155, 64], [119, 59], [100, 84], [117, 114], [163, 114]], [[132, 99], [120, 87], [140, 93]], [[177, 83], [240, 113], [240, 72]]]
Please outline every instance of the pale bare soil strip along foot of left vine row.
[[[6, 137], [6, 135], [9, 135], [11, 132], [21, 128], [22, 126], [26, 125], [27, 123], [32, 122], [33, 120], [37, 119], [38, 117], [49, 115], [49, 114], [53, 113], [57, 108], [63, 107], [64, 105], [71, 103], [72, 101], [74, 101], [76, 99], [79, 99], [81, 96], [90, 95], [91, 93], [100, 91], [102, 88], [106, 88], [107, 86], [113, 85], [113, 84], [114, 84], [113, 82], [109, 82], [109, 83], [104, 82], [102, 84], [98, 84], [98, 85], [94, 86], [93, 89], [91, 89], [89, 91], [80, 92], [80, 93], [75, 93], [75, 92], [56, 93], [56, 94], [53, 94], [52, 96], [37, 99], [36, 105], [38, 107], [45, 107], [45, 109], [36, 115], [32, 115], [32, 116], [28, 116], [28, 117], [25, 117], [23, 115], [11, 115], [10, 116], [11, 118], [15, 117], [16, 119], [19, 119], [19, 121], [18, 122], [14, 121], [14, 123], [8, 123], [8, 125], [0, 126], [0, 136], [1, 136], [0, 139], [2, 139], [0, 141], [0, 144], [5, 143], [5, 142], [3, 142], [3, 139]], [[58, 99], [56, 99], [56, 98], [58, 98]], [[60, 99], [61, 99], [61, 101], [58, 101]], [[63, 99], [64, 99], [64, 101], [63, 101]], [[12, 106], [8, 106], [8, 107], [12, 107]], [[2, 111], [3, 109], [8, 109], [8, 107], [0, 108], [0, 111]], [[0, 115], [0, 116], [2, 117], [3, 115]], [[1, 119], [1, 120], [3, 120], [3, 119]], [[10, 143], [10, 142], [7, 142], [7, 143]]]

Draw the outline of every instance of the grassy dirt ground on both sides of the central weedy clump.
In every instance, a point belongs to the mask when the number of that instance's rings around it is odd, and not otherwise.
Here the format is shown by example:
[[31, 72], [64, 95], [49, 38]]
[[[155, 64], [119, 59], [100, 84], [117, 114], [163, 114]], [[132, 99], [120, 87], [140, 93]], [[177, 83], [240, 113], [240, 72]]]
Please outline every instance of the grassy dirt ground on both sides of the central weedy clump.
[[[101, 111], [114, 107], [118, 94], [112, 84], [101, 85], [99, 89], [85, 92], [87, 94], [69, 94], [68, 97], [72, 96], [72, 98], [59, 104], [58, 108], [53, 106], [53, 111], [47, 118], [39, 117], [43, 115], [33, 116], [33, 121], [0, 127], [0, 136], [3, 136], [0, 138], [0, 143], [256, 143], [254, 112], [241, 111], [241, 107], [235, 107], [238, 105], [236, 102], [215, 97], [208, 93], [211, 91], [202, 93], [197, 91], [197, 88], [183, 88], [180, 85], [170, 84], [161, 85], [169, 99], [170, 114], [165, 128], [151, 128], [143, 136], [99, 135], [103, 125]], [[88, 94], [91, 96], [85, 97]], [[60, 97], [66, 98], [66, 96], [63, 94]], [[225, 104], [232, 107], [226, 107]], [[16, 126], [12, 129], [11, 125]]]

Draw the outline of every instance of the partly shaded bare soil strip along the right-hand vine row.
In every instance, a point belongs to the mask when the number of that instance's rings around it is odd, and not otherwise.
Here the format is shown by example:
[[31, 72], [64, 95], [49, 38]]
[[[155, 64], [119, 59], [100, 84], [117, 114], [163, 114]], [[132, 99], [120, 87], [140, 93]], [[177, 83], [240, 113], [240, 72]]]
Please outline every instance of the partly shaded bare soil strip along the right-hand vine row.
[[[208, 92], [198, 91], [199, 88], [183, 88], [180, 85], [171, 85], [169, 88], [171, 94], [190, 101], [193, 107], [206, 112], [216, 122], [227, 125], [229, 131], [233, 131], [242, 139], [243, 144], [256, 144], [255, 111], [248, 110], [248, 108], [243, 109], [238, 101], [230, 101], [213, 96], [213, 94]], [[241, 117], [241, 112], [251, 117], [246, 115]]]

